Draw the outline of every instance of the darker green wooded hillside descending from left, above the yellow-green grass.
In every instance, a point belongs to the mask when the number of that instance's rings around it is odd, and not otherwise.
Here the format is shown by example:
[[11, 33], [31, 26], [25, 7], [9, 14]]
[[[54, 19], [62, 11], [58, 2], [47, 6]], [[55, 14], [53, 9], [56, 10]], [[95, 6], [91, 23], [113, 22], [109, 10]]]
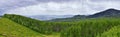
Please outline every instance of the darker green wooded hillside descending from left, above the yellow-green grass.
[[5, 14], [4, 18], [8, 18], [22, 26], [26, 26], [36, 32], [41, 34], [52, 34], [54, 32], [60, 32], [61, 30], [65, 30], [66, 28], [70, 27], [74, 23], [65, 23], [65, 22], [47, 22], [47, 21], [40, 21], [36, 19], [32, 19], [29, 17], [15, 15], [15, 14]]

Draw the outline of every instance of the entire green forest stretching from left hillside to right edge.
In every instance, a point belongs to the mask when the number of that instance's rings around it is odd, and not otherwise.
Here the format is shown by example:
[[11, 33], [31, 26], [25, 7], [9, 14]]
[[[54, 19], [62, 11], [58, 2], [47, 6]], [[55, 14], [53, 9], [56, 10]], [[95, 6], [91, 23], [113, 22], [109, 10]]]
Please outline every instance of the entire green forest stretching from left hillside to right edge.
[[96, 37], [98, 35], [102, 36], [105, 32], [111, 30], [111, 28], [120, 25], [120, 18], [104, 17], [72, 22], [48, 22], [15, 14], [5, 14], [3, 17], [40, 34], [47, 35], [46, 37]]

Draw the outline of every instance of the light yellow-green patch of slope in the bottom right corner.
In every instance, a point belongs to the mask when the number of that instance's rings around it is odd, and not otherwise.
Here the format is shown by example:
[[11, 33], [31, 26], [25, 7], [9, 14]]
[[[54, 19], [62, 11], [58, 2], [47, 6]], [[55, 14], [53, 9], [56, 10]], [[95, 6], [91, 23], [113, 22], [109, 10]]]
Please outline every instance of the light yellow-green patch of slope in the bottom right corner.
[[101, 36], [97, 37], [120, 37], [120, 25], [111, 28], [109, 31], [104, 32]]

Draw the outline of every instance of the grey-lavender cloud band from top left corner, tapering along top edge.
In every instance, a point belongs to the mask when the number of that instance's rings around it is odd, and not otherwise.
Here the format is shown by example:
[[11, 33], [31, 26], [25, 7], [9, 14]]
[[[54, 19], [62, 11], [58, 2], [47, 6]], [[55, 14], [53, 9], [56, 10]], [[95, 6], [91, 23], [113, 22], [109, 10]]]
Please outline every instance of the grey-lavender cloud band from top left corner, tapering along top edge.
[[70, 2], [78, 0], [0, 0], [0, 11], [7, 11], [11, 9], [16, 9], [20, 7], [26, 7], [31, 5], [37, 5], [39, 3], [48, 2]]

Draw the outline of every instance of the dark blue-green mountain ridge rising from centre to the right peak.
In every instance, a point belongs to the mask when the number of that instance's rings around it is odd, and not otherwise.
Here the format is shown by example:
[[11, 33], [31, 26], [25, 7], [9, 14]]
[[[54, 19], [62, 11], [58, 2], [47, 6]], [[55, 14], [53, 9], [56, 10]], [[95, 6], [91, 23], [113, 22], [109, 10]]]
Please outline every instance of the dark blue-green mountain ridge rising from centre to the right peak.
[[107, 9], [105, 11], [101, 11], [98, 13], [95, 13], [93, 15], [75, 15], [73, 17], [70, 18], [57, 18], [57, 19], [53, 19], [50, 21], [75, 21], [75, 20], [81, 20], [81, 19], [88, 19], [88, 18], [102, 18], [102, 17], [115, 17], [115, 18], [119, 18], [120, 17], [120, 10], [117, 9]]

